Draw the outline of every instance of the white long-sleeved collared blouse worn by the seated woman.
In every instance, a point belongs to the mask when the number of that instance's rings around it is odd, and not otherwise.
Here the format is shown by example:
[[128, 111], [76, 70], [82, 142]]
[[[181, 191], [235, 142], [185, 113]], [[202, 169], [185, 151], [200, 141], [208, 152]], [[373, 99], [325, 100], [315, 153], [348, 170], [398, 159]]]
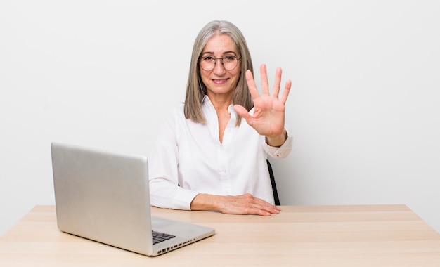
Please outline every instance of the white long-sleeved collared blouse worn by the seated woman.
[[[287, 140], [280, 148], [266, 144], [242, 119], [235, 126], [237, 114], [230, 105], [231, 119], [219, 141], [216, 110], [207, 96], [202, 100], [206, 124], [192, 122], [183, 114], [183, 105], [164, 121], [150, 157], [150, 202], [169, 209], [190, 209], [199, 193], [242, 195], [251, 193], [273, 204], [267, 154], [283, 158], [292, 150], [292, 135], [286, 127]], [[251, 110], [251, 113], [253, 109]]]

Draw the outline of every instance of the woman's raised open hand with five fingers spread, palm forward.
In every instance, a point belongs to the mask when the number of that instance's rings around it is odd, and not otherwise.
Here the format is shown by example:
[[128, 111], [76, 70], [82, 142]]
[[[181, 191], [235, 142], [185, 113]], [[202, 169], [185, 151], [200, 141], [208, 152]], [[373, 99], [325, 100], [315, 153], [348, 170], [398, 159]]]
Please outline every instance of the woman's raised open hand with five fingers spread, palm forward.
[[283, 135], [285, 121], [285, 102], [289, 96], [292, 82], [287, 79], [285, 82], [283, 93], [280, 93], [281, 84], [281, 68], [277, 68], [275, 72], [275, 80], [273, 91], [269, 93], [269, 84], [267, 79], [266, 65], [260, 67], [261, 73], [261, 95], [258, 92], [257, 85], [250, 70], [246, 72], [247, 86], [254, 99], [254, 113], [250, 115], [241, 105], [234, 105], [235, 112], [243, 117], [247, 124], [252, 126], [259, 134], [268, 138], [277, 138]]

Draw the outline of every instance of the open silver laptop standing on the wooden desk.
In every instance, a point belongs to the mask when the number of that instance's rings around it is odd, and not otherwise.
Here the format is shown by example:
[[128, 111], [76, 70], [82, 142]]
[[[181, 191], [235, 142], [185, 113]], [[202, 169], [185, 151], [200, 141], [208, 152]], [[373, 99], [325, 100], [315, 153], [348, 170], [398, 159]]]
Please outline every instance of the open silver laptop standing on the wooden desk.
[[213, 228], [151, 216], [145, 156], [55, 142], [51, 156], [62, 232], [146, 256], [215, 234]]

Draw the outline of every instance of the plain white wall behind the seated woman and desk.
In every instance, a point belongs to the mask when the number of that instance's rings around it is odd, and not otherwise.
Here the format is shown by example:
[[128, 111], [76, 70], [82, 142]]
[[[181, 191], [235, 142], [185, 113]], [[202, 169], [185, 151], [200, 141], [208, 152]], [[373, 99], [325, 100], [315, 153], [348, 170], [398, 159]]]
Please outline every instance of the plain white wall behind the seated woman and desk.
[[[440, 1], [1, 1], [0, 235], [54, 204], [50, 143], [148, 155], [198, 31], [292, 79], [282, 204], [407, 204], [440, 232]], [[256, 75], [259, 82], [259, 74]], [[284, 81], [283, 81], [284, 82]]]

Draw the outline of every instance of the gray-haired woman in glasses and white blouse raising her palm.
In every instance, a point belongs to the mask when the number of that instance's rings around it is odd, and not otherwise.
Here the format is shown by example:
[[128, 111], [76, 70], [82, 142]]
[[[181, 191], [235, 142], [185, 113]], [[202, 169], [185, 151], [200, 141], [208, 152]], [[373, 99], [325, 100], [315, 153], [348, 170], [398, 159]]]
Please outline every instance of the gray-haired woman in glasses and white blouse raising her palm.
[[[278, 214], [267, 155], [286, 157], [281, 69], [269, 94], [261, 65], [262, 95], [253, 79], [245, 38], [235, 25], [212, 21], [195, 39], [186, 99], [164, 122], [149, 157], [151, 204], [228, 214]], [[242, 122], [242, 118], [246, 122]]]

